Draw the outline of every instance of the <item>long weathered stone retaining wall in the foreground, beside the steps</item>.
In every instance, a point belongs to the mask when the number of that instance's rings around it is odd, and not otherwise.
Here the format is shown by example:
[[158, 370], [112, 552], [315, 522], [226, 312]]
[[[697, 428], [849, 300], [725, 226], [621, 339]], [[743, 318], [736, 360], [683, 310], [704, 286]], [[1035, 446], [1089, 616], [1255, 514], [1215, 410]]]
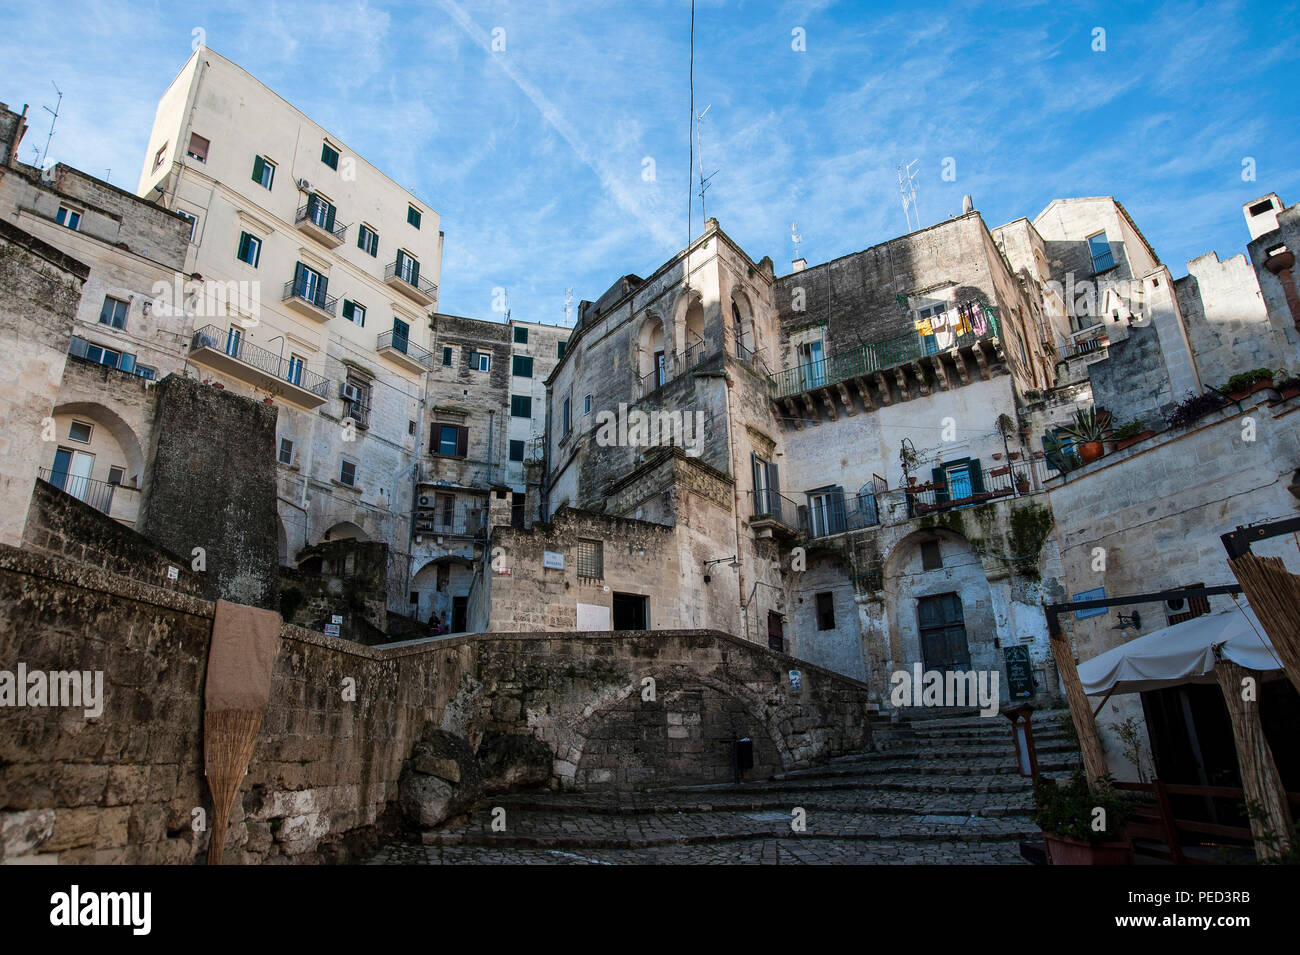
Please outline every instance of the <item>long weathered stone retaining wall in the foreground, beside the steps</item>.
[[[3, 667], [103, 674], [99, 713], [0, 707], [0, 860], [203, 860], [212, 615], [190, 594], [0, 547]], [[429, 725], [473, 747], [532, 734], [554, 754], [552, 785], [577, 787], [728, 778], [732, 733], [755, 739], [758, 772], [870, 739], [863, 685], [719, 633], [372, 648], [286, 625], [228, 860], [355, 858], [394, 822], [403, 764]]]

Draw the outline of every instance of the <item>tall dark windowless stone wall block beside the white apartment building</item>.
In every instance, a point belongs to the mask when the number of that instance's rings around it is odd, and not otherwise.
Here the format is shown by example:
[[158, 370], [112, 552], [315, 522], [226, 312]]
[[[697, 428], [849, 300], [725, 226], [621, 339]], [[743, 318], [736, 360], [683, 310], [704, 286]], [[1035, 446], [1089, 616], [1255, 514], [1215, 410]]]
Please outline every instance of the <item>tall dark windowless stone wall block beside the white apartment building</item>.
[[278, 608], [276, 407], [174, 374], [157, 392], [142, 531], [202, 547], [209, 598]]

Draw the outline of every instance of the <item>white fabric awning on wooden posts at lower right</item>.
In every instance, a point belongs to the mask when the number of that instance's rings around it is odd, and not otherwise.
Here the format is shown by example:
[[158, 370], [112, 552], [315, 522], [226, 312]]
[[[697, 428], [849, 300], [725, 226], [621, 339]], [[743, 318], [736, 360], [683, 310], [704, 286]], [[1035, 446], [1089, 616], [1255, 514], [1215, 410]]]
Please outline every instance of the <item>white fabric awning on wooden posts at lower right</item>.
[[1108, 650], [1079, 664], [1079, 680], [1089, 696], [1141, 693], [1179, 683], [1213, 683], [1214, 647], [1223, 644], [1228, 660], [1249, 670], [1282, 670], [1268, 634], [1245, 604], [1193, 617]]

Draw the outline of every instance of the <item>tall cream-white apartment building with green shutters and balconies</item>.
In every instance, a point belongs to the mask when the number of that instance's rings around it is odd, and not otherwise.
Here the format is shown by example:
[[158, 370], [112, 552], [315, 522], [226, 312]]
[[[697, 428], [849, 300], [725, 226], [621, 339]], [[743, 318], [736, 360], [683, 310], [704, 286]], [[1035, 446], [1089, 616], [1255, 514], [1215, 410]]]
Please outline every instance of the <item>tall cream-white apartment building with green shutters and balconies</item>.
[[159, 101], [138, 194], [191, 221], [188, 360], [280, 407], [281, 561], [385, 541], [404, 608], [438, 213], [202, 47]]

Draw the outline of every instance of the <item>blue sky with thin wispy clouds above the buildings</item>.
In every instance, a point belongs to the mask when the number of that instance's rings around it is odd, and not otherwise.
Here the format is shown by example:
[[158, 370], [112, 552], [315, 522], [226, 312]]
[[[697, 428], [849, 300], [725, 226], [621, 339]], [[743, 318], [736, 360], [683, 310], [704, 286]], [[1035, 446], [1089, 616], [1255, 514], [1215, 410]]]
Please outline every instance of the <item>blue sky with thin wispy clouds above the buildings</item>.
[[[1069, 9], [1067, 9], [1069, 8]], [[134, 190], [192, 31], [442, 214], [439, 305], [562, 322], [686, 240], [689, 3], [380, 0], [6, 4], [0, 100], [31, 104], [21, 157]], [[1175, 275], [1247, 242], [1242, 203], [1300, 201], [1297, 3], [710, 3], [696, 108], [710, 216], [789, 270], [922, 225], [970, 192], [988, 225], [1114, 195]], [[504, 30], [503, 52], [490, 49]], [[1098, 52], [1093, 31], [1105, 30]], [[802, 29], [802, 51], [794, 31]], [[502, 34], [497, 34], [500, 36]], [[954, 161], [956, 181], [942, 178]], [[1243, 160], [1256, 181], [1243, 181]], [[654, 178], [646, 179], [646, 160]], [[696, 203], [696, 231], [699, 205]]]

